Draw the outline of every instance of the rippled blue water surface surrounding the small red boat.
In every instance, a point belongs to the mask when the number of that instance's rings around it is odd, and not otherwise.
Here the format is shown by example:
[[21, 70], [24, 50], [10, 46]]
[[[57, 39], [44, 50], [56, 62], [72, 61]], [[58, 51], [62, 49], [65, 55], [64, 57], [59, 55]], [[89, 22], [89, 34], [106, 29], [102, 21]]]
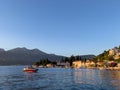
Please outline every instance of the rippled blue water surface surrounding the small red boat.
[[120, 71], [0, 66], [0, 90], [120, 90]]

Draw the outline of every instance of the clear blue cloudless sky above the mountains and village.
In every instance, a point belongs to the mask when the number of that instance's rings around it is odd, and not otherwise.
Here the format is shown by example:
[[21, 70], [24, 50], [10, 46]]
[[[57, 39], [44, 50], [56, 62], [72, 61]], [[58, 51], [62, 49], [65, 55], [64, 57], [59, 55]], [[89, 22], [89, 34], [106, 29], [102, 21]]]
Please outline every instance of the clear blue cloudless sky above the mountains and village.
[[0, 48], [63, 56], [120, 45], [120, 0], [0, 0]]

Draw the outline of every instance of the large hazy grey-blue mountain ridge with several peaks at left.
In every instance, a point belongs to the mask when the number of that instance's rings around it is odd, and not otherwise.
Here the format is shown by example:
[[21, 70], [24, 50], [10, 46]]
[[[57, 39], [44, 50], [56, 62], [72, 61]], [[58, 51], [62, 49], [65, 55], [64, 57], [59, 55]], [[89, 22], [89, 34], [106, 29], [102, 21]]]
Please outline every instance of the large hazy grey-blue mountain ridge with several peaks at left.
[[61, 60], [63, 56], [47, 54], [39, 49], [15, 48], [8, 51], [0, 49], [0, 65], [26, 65], [47, 58], [55, 61]]

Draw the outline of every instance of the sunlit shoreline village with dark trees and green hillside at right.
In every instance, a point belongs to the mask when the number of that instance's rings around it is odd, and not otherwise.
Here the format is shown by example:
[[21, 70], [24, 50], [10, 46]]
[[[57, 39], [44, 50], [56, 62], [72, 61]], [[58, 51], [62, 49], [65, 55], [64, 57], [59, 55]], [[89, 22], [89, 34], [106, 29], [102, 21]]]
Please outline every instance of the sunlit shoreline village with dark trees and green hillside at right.
[[42, 60], [40, 62], [35, 62], [33, 66], [45, 68], [98, 68], [100, 70], [120, 70], [120, 47], [104, 51], [102, 54], [90, 60], [71, 56], [70, 58], [66, 57], [56, 62]]

